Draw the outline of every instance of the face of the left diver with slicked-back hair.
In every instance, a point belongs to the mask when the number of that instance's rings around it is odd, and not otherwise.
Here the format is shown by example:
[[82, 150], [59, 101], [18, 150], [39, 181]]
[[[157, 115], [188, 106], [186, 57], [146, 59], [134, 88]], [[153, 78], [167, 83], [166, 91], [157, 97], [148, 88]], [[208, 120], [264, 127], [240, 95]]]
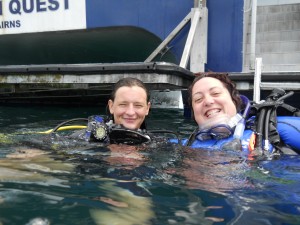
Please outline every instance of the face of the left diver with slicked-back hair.
[[149, 113], [150, 102], [147, 102], [147, 94], [143, 88], [124, 86], [116, 91], [115, 100], [109, 100], [108, 106], [116, 124], [139, 129]]

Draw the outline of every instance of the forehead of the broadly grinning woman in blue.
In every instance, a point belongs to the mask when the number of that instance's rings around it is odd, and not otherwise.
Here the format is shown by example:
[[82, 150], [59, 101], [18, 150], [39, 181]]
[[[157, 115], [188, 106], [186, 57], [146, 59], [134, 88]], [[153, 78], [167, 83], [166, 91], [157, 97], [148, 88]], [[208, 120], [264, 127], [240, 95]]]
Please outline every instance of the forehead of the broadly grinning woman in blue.
[[194, 84], [192, 93], [205, 93], [217, 87], [224, 88], [224, 85], [220, 80], [213, 77], [204, 77]]

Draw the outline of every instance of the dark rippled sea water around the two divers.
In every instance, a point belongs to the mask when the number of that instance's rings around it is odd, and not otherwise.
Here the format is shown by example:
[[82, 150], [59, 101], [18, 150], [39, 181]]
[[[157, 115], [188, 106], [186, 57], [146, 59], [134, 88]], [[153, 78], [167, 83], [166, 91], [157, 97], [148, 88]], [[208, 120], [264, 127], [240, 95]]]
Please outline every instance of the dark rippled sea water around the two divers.
[[[97, 107], [0, 110], [0, 224], [300, 224], [300, 158], [238, 151], [54, 142], [62, 121]], [[148, 129], [188, 137], [180, 109], [152, 109]], [[48, 141], [47, 141], [48, 140]]]

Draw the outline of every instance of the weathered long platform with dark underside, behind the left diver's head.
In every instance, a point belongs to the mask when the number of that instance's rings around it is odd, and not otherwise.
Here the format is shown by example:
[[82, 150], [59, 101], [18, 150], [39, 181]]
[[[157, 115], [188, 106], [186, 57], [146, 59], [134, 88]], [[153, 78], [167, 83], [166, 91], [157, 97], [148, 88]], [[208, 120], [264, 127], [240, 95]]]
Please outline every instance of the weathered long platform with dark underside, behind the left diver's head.
[[195, 76], [164, 62], [1, 66], [0, 103], [106, 105], [113, 85], [124, 77], [168, 92], [187, 89]]

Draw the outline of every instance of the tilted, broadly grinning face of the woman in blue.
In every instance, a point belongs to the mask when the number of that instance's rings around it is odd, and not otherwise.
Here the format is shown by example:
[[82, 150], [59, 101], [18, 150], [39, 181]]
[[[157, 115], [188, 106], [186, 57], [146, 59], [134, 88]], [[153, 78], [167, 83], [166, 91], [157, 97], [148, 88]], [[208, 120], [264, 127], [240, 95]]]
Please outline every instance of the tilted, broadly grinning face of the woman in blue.
[[192, 89], [192, 107], [199, 126], [220, 117], [236, 115], [236, 106], [223, 83], [213, 77], [197, 81]]

